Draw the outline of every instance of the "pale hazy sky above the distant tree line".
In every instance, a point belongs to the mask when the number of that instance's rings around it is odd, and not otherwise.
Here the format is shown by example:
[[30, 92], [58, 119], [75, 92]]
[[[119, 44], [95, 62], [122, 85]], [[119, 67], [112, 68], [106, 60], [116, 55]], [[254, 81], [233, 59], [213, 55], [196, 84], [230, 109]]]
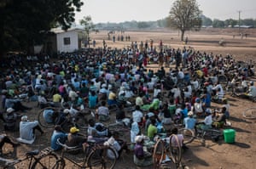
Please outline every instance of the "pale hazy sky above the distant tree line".
[[[175, 0], [83, 0], [82, 11], [76, 14], [76, 22], [90, 15], [92, 21], [123, 22], [149, 21], [166, 18]], [[197, 0], [207, 17], [219, 20], [236, 19], [241, 11], [241, 19], [256, 19], [256, 0]]]

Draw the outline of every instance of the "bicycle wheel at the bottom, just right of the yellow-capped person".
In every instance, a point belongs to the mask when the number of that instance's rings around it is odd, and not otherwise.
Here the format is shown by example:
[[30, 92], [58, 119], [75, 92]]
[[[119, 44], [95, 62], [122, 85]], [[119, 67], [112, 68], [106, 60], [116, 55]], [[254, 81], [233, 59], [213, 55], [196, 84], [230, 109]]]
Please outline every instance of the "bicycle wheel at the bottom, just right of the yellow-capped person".
[[102, 146], [90, 152], [87, 166], [90, 169], [112, 169], [115, 166], [116, 159], [116, 153], [111, 147]]

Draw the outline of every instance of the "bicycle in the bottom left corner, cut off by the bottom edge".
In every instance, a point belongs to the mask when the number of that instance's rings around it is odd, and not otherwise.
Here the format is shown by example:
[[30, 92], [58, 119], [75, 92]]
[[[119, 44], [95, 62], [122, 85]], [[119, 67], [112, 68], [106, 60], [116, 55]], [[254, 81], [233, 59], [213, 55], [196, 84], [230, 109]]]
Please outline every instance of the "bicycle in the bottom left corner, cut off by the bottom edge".
[[[10, 169], [14, 167], [28, 169], [53, 168], [52, 166], [58, 160], [58, 157], [57, 155], [50, 153], [51, 151], [52, 150], [50, 148], [46, 148], [41, 151], [38, 151], [38, 149], [29, 151], [26, 153], [24, 158], [15, 161], [6, 161], [7, 163], [3, 166], [3, 169]], [[29, 163], [27, 164], [24, 161], [29, 161]]]

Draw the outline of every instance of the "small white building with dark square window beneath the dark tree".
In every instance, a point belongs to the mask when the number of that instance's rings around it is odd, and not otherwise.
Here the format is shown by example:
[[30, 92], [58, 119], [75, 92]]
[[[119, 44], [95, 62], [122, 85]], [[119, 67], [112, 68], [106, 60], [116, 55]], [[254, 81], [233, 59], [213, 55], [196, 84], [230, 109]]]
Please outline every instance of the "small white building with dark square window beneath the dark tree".
[[[71, 28], [67, 31], [55, 28], [50, 31], [40, 52], [43, 51], [46, 54], [72, 53], [83, 47], [85, 39], [85, 31], [81, 28]], [[35, 51], [35, 53], [37, 52]]]

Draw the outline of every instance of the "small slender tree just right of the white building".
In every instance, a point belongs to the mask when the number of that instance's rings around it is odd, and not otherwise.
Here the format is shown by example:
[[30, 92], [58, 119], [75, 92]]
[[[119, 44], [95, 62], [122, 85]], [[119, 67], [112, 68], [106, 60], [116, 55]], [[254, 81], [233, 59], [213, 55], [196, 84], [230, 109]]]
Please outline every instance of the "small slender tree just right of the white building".
[[93, 24], [90, 16], [84, 16], [84, 19], [80, 20], [80, 25], [84, 26], [84, 31], [90, 48], [90, 32], [98, 32], [98, 30], [95, 29], [96, 26]]

